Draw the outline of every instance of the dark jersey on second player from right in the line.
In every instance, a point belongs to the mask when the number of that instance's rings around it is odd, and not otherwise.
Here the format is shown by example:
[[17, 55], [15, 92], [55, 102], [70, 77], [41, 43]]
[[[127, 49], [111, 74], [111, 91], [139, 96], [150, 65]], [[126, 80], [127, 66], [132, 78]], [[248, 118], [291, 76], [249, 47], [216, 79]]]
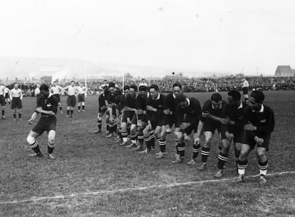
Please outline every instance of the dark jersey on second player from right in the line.
[[234, 121], [234, 125], [222, 125], [224, 132], [240, 132], [244, 130], [244, 111], [248, 107], [246, 102], [242, 102], [239, 107], [226, 104], [222, 107], [222, 118], [229, 117]]

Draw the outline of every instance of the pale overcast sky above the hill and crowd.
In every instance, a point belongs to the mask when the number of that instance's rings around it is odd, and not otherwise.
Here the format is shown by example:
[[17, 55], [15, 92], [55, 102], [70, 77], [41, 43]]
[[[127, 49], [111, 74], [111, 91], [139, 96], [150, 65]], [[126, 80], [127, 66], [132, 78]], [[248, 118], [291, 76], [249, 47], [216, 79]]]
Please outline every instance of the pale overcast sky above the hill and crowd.
[[1, 0], [0, 56], [274, 75], [295, 68], [295, 1]]

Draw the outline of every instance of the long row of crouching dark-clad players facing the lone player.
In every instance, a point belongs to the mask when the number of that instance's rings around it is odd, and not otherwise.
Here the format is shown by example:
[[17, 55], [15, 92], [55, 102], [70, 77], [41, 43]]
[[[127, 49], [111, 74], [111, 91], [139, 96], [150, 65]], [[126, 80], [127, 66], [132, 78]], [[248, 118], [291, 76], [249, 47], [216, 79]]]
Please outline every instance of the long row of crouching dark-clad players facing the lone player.
[[[257, 96], [257, 92], [254, 92], [253, 103], [256, 101], [262, 105], [264, 95], [262, 93], [262, 98], [261, 93], [261, 91], [258, 92]], [[254, 129], [258, 129], [256, 126], [259, 123], [256, 123], [255, 126], [252, 123], [251, 125], [245, 124], [244, 113], [248, 104], [242, 102], [239, 91], [230, 90], [227, 93], [227, 102], [222, 100], [222, 96], [218, 92], [214, 92], [211, 99], [201, 107], [199, 100], [195, 97], [186, 97], [182, 93], [180, 83], [174, 83], [172, 92], [167, 95], [162, 95], [159, 92], [159, 87], [155, 84], [150, 87], [140, 85], [139, 88], [137, 85], [125, 85], [122, 94], [122, 91], [116, 88], [114, 83], [109, 83], [109, 85], [105, 85], [103, 93], [100, 94], [98, 104], [98, 130], [95, 133], [101, 132], [103, 115], [105, 114], [106, 137], [116, 136], [115, 142], [120, 143], [120, 146], [132, 148], [133, 151], [143, 154], [155, 151], [155, 142], [157, 141], [160, 152], [155, 154], [156, 159], [165, 158], [167, 155], [166, 134], [170, 133], [172, 125], [175, 125], [176, 154], [172, 164], [184, 162], [185, 143], [190, 141], [189, 135], [193, 133], [192, 159], [187, 164], [195, 165], [197, 156], [201, 152], [202, 164], [198, 167], [200, 171], [206, 169], [211, 140], [217, 130], [220, 142], [217, 172], [214, 176], [216, 178], [222, 177], [224, 164], [228, 159], [229, 147], [233, 142], [239, 180], [243, 181], [244, 170], [247, 167], [247, 154], [253, 148], [246, 149], [246, 160], [244, 152], [244, 156], [240, 157], [246, 132], [245, 126], [248, 126], [246, 128], [249, 132], [255, 132]], [[266, 105], [264, 107], [269, 108]], [[261, 112], [261, 106], [259, 111]], [[256, 113], [259, 114], [259, 111]], [[262, 111], [262, 114], [264, 113]], [[264, 121], [266, 123], [262, 122], [261, 125], [270, 126], [266, 132], [268, 141], [262, 141], [267, 138], [262, 139], [261, 136], [254, 135], [252, 137], [254, 145], [257, 144], [257, 152], [259, 144], [265, 147], [264, 153], [257, 153], [262, 179], [264, 179], [268, 167], [265, 151], [268, 149], [270, 133], [274, 128], [273, 114], [272, 117], [266, 117], [266, 119]], [[200, 136], [202, 132], [205, 142], [201, 147]], [[253, 136], [253, 134], [251, 135]], [[262, 182], [265, 183], [265, 179]]]

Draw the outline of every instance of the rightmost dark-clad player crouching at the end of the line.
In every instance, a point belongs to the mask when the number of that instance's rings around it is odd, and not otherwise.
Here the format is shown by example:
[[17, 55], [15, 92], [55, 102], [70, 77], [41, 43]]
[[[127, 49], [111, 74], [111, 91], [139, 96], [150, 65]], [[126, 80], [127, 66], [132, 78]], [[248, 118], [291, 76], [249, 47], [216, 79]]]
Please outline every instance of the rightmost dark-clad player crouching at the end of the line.
[[245, 136], [242, 144], [242, 150], [239, 154], [238, 173], [239, 181], [244, 181], [244, 174], [247, 168], [247, 157], [249, 153], [257, 147], [259, 185], [266, 184], [266, 172], [269, 162], [266, 158], [266, 152], [269, 150], [269, 139], [271, 132], [274, 131], [274, 112], [267, 105], [263, 104], [264, 93], [255, 90], [249, 98], [249, 107], [244, 112], [244, 130]]

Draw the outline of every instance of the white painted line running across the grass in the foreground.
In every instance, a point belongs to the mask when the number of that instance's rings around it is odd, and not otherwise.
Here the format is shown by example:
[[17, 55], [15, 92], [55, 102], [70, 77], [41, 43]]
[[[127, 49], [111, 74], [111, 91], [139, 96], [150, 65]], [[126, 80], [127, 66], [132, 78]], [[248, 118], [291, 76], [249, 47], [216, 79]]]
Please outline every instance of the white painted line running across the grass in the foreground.
[[[295, 171], [283, 171], [279, 173], [274, 174], [267, 174], [266, 176], [280, 176], [284, 174], [295, 174]], [[253, 176], [246, 176], [247, 178], [254, 178], [259, 176], [253, 175]], [[66, 199], [66, 198], [73, 198], [78, 196], [88, 196], [88, 195], [98, 195], [98, 194], [115, 194], [125, 191], [145, 191], [148, 189], [157, 189], [157, 188], [171, 188], [175, 186], [186, 186], [186, 185], [192, 185], [192, 184], [205, 184], [210, 182], [222, 182], [222, 181], [232, 181], [237, 179], [237, 177], [229, 178], [229, 179], [209, 179], [204, 181], [187, 181], [182, 183], [171, 183], [171, 184], [160, 184], [160, 185], [152, 185], [152, 186], [146, 186], [146, 187], [135, 187], [135, 188], [126, 188], [126, 189], [116, 189], [116, 190], [110, 190], [110, 191], [93, 191], [93, 192], [85, 192], [85, 193], [78, 193], [78, 194], [68, 194], [68, 195], [58, 195], [58, 196], [43, 196], [43, 197], [31, 197], [30, 199], [24, 199], [24, 200], [15, 200], [15, 201], [0, 201], [0, 204], [12, 204], [12, 203], [28, 203], [28, 202], [37, 202], [37, 201], [46, 201], [46, 200], [55, 200], [55, 199]]]

